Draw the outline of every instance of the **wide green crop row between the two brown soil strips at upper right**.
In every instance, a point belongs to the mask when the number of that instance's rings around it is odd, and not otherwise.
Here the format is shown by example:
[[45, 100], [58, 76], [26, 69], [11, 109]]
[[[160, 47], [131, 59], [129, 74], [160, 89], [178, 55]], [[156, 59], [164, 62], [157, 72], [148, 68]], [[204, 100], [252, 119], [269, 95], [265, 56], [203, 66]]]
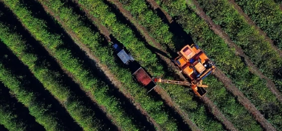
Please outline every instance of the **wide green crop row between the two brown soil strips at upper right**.
[[265, 40], [252, 25], [249, 25], [228, 0], [217, 2], [198, 0], [198, 2], [213, 21], [221, 26], [253, 63], [282, 91], [282, 77], [276, 77], [276, 70], [282, 68], [282, 58], [271, 47], [271, 43]]

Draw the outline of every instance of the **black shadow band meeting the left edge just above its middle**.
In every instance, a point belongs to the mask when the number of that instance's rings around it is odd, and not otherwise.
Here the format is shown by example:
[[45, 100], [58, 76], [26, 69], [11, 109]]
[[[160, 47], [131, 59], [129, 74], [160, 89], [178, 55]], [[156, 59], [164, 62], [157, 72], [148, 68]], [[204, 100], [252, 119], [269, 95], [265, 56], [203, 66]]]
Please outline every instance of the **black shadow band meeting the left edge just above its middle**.
[[2, 42], [0, 42], [0, 57], [4, 68], [7, 68], [14, 74], [17, 80], [23, 85], [22, 88], [25, 88], [24, 90], [33, 92], [37, 101], [44, 101], [45, 108], [47, 108], [48, 105], [52, 105], [50, 108], [48, 107], [48, 109], [50, 109], [50, 113], [55, 113], [56, 116], [60, 118], [60, 123], [63, 125], [71, 125], [70, 127], [66, 127], [66, 130], [75, 128], [75, 123], [73, 123], [73, 120], [68, 116], [67, 112], [60, 106], [59, 102], [44, 89], [43, 85], [33, 76], [28, 67], [23, 65]]

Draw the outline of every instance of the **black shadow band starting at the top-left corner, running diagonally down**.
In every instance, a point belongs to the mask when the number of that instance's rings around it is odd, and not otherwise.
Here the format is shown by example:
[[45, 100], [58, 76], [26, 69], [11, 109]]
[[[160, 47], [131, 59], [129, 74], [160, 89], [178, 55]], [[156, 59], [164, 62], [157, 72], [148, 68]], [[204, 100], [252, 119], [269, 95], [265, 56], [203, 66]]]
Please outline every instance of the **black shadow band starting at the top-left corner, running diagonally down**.
[[[0, 7], [2, 7], [2, 3], [0, 3]], [[4, 8], [3, 8], [4, 9]], [[3, 10], [2, 9], [2, 10]], [[87, 94], [82, 91], [78, 84], [76, 84], [72, 78], [68, 77], [68, 75], [62, 70], [60, 65], [56, 62], [56, 60], [50, 56], [50, 54], [45, 50], [45, 48], [40, 44], [40, 42], [36, 41], [32, 35], [21, 25], [19, 21], [17, 21], [16, 17], [13, 15], [12, 12], [8, 11], [5, 8], [3, 11], [6, 14], [6, 18], [3, 19], [5, 22], [9, 23], [10, 27], [16, 26], [16, 32], [22, 35], [22, 37], [30, 44], [28, 52], [36, 54], [39, 60], [37, 64], [41, 64], [42, 62], [46, 62], [45, 66], [48, 66], [48, 69], [51, 71], [59, 72], [60, 80], [63, 85], [69, 87], [69, 90], [77, 96], [78, 101], [83, 101], [87, 108], [92, 109], [95, 112], [95, 117], [99, 119], [102, 123], [106, 124], [107, 128], [116, 129], [114, 125], [112, 125], [111, 121], [106, 119], [106, 115], [99, 109], [99, 107], [94, 103]], [[2, 20], [2, 19], [1, 19]], [[32, 49], [31, 49], [32, 48]], [[58, 102], [56, 102], [58, 103]], [[65, 111], [66, 112], [66, 111]], [[68, 121], [74, 121], [70, 116], [64, 117]], [[72, 123], [69, 124], [72, 130], [81, 131], [82, 129], [76, 124]]]

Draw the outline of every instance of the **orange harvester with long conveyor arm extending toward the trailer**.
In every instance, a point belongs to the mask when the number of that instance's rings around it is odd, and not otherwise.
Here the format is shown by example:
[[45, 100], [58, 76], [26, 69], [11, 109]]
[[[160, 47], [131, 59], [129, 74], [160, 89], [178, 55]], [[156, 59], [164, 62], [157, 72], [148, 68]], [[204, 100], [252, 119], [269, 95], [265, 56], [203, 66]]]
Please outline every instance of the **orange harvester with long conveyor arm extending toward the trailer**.
[[214, 63], [197, 45], [186, 45], [178, 52], [179, 56], [173, 62], [179, 67], [180, 72], [188, 78], [188, 82], [164, 80], [154, 78], [154, 82], [187, 85], [192, 88], [199, 97], [204, 96], [208, 86], [202, 85], [202, 81], [216, 69]]

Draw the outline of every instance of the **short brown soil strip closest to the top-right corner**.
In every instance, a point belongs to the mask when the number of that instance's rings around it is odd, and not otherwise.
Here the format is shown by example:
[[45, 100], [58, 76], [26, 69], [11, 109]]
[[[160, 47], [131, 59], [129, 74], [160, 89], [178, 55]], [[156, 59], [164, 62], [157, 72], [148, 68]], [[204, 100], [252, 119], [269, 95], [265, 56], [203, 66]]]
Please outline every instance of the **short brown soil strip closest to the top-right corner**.
[[277, 46], [274, 45], [273, 40], [271, 40], [270, 37], [267, 36], [267, 34], [259, 27], [256, 25], [256, 23], [250, 19], [250, 17], [242, 10], [242, 8], [235, 2], [235, 0], [228, 0], [230, 4], [232, 4], [237, 10], [238, 12], [244, 16], [244, 18], [247, 20], [247, 22], [254, 26], [260, 33], [260, 35], [263, 35], [265, 37], [265, 39], [271, 43], [271, 47], [275, 50], [277, 50], [278, 54], [280, 55], [280, 57], [282, 57], [282, 50], [280, 50]]

